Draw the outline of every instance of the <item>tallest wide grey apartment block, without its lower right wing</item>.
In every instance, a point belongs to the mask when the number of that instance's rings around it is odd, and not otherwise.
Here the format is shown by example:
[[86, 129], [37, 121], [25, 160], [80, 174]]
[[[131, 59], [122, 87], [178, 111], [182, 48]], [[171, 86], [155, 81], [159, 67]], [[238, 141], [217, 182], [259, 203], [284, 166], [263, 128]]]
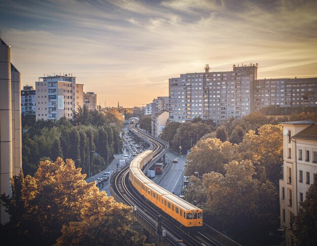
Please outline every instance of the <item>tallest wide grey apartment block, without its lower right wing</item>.
[[[185, 122], [194, 117], [213, 119], [220, 125], [229, 117], [241, 118], [254, 110], [254, 77], [258, 64], [233, 71], [181, 74], [169, 79], [170, 121]], [[238, 69], [239, 68], [239, 69]], [[254, 74], [253, 74], [254, 73]]]

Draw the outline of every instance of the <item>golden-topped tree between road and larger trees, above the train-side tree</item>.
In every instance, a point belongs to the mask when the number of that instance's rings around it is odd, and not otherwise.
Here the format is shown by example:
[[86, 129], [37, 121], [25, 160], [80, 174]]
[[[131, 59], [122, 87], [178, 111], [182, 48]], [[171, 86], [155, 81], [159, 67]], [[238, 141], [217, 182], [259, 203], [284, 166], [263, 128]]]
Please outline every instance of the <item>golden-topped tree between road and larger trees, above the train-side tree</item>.
[[194, 175], [194, 172], [203, 174], [217, 172], [224, 174], [224, 164], [233, 159], [239, 159], [236, 145], [230, 142], [221, 142], [217, 138], [201, 140], [187, 155], [185, 175]]

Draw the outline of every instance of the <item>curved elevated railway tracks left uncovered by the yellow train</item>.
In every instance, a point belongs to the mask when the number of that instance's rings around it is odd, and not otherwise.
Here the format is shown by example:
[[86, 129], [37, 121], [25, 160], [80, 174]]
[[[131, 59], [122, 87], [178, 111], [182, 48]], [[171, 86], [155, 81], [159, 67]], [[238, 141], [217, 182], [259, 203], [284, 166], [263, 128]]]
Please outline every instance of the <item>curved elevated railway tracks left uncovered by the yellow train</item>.
[[[163, 149], [168, 146], [165, 143], [153, 138], [151, 135], [147, 135], [138, 129], [135, 129], [135, 125], [130, 128], [132, 132], [146, 138], [151, 142], [153, 150], [153, 159], [159, 155]], [[156, 225], [156, 220], [159, 216], [163, 218], [163, 230], [166, 230], [166, 237], [169, 239], [171, 245], [219, 245], [209, 238], [208, 235], [201, 229], [196, 231], [187, 231], [180, 228], [179, 225], [174, 224], [169, 220], [169, 216], [166, 215], [160, 209], [157, 209], [151, 202], [148, 202], [130, 185], [129, 182], [129, 166], [117, 173], [114, 177], [113, 192], [120, 197], [120, 199], [128, 206], [136, 206], [137, 213], [143, 216], [149, 224], [153, 227]], [[205, 223], [204, 223], [205, 224]]]

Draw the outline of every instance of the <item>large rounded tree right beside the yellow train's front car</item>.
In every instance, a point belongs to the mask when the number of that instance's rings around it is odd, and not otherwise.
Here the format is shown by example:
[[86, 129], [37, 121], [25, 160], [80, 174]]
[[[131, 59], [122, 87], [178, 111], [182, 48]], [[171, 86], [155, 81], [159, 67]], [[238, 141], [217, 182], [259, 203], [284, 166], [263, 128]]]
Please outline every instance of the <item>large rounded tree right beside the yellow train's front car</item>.
[[252, 235], [267, 238], [268, 232], [279, 225], [279, 195], [275, 187], [269, 181], [261, 183], [253, 178], [251, 160], [232, 160], [224, 165], [224, 170], [224, 175], [204, 174], [202, 185], [192, 179], [198, 195], [191, 192], [185, 198], [200, 201], [197, 205], [204, 210], [205, 218], [237, 239], [245, 242]]

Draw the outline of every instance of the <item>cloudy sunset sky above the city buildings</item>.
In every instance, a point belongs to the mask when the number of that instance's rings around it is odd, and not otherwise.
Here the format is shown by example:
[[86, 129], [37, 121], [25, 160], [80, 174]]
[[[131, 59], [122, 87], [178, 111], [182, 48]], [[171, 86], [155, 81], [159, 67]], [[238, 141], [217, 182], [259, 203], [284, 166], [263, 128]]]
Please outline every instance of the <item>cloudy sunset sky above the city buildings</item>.
[[0, 30], [21, 86], [72, 74], [101, 106], [144, 106], [206, 64], [317, 77], [315, 0], [0, 0]]

